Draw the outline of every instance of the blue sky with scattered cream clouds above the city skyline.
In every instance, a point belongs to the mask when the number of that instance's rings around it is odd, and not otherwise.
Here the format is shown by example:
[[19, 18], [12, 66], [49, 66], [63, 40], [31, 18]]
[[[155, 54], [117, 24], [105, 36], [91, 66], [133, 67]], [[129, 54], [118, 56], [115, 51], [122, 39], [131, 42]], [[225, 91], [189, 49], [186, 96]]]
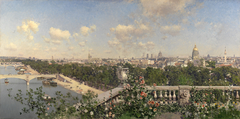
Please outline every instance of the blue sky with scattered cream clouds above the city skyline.
[[237, 0], [1, 0], [0, 56], [240, 56]]

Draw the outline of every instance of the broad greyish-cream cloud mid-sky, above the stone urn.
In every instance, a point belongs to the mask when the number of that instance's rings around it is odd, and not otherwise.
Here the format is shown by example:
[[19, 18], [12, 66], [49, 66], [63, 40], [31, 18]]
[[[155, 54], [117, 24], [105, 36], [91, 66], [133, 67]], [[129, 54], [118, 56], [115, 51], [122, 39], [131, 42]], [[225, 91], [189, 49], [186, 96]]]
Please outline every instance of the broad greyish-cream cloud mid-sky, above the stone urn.
[[115, 28], [110, 28], [109, 30], [113, 38], [108, 41], [108, 45], [124, 54], [136, 46], [137, 40], [143, 40], [153, 33], [149, 23], [143, 23], [136, 20], [133, 25], [119, 24]]

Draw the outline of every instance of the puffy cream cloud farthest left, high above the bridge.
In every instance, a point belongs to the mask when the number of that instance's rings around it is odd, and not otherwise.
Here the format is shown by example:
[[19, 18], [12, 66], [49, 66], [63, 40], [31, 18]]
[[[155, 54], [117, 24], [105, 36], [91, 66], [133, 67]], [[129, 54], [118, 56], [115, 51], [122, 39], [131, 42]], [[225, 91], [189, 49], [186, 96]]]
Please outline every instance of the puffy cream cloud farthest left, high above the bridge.
[[32, 36], [31, 32], [37, 33], [39, 25], [40, 23], [31, 21], [31, 20], [23, 21], [22, 26], [17, 26], [17, 31], [19, 33], [25, 33], [25, 35], [27, 36], [27, 39], [32, 41], [34, 37]]

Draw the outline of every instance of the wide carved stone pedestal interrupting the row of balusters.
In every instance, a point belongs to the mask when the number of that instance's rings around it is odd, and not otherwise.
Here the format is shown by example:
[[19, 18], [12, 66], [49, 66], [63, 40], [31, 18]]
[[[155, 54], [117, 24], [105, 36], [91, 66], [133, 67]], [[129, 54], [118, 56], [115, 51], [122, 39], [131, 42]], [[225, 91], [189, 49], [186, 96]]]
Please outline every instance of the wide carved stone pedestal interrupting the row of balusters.
[[178, 86], [179, 91], [178, 91], [178, 102], [179, 105], [187, 105], [189, 103], [189, 98], [190, 98], [190, 90], [188, 89], [187, 85], [184, 86]]

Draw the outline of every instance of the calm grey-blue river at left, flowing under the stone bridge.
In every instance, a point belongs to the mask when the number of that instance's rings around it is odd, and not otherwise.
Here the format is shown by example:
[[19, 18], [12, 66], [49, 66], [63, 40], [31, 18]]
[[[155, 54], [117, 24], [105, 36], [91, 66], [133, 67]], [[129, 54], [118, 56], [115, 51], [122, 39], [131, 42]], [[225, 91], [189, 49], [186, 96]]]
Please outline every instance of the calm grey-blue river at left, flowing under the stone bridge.
[[[0, 66], [0, 74], [17, 74], [17, 71], [14, 67], [9, 66], [7, 68]], [[51, 97], [56, 96], [56, 91], [61, 91], [64, 95], [70, 92], [73, 96], [78, 96], [81, 99], [81, 95], [67, 90], [61, 86], [57, 87], [44, 87], [41, 80], [32, 79], [29, 82], [29, 86], [26, 85], [26, 81], [18, 78], [9, 78], [9, 84], [4, 83], [4, 79], [0, 79], [0, 119], [10, 118], [10, 119], [33, 119], [37, 118], [35, 112], [23, 113], [20, 115], [21, 109], [24, 108], [24, 105], [8, 97], [9, 92], [7, 89], [11, 89], [11, 95], [15, 96], [18, 93], [18, 90], [22, 90], [22, 94], [26, 93], [26, 90], [30, 88], [36, 90], [40, 86], [43, 87], [43, 92], [50, 95]]]

